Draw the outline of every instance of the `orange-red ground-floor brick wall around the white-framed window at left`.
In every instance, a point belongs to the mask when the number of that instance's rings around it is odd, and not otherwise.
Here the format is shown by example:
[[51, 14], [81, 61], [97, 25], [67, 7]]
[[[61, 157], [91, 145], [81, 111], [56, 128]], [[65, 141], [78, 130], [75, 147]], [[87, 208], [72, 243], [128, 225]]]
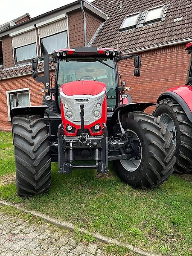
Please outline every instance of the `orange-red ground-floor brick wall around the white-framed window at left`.
[[[50, 72], [50, 77], [53, 73], [54, 71]], [[43, 76], [43, 73], [39, 75]], [[44, 93], [41, 92], [41, 89], [44, 88], [44, 85], [42, 83], [36, 83], [36, 80], [31, 75], [0, 81], [0, 131], [11, 132], [11, 121], [8, 120], [6, 91], [23, 88], [29, 88], [31, 106], [42, 105]]]

